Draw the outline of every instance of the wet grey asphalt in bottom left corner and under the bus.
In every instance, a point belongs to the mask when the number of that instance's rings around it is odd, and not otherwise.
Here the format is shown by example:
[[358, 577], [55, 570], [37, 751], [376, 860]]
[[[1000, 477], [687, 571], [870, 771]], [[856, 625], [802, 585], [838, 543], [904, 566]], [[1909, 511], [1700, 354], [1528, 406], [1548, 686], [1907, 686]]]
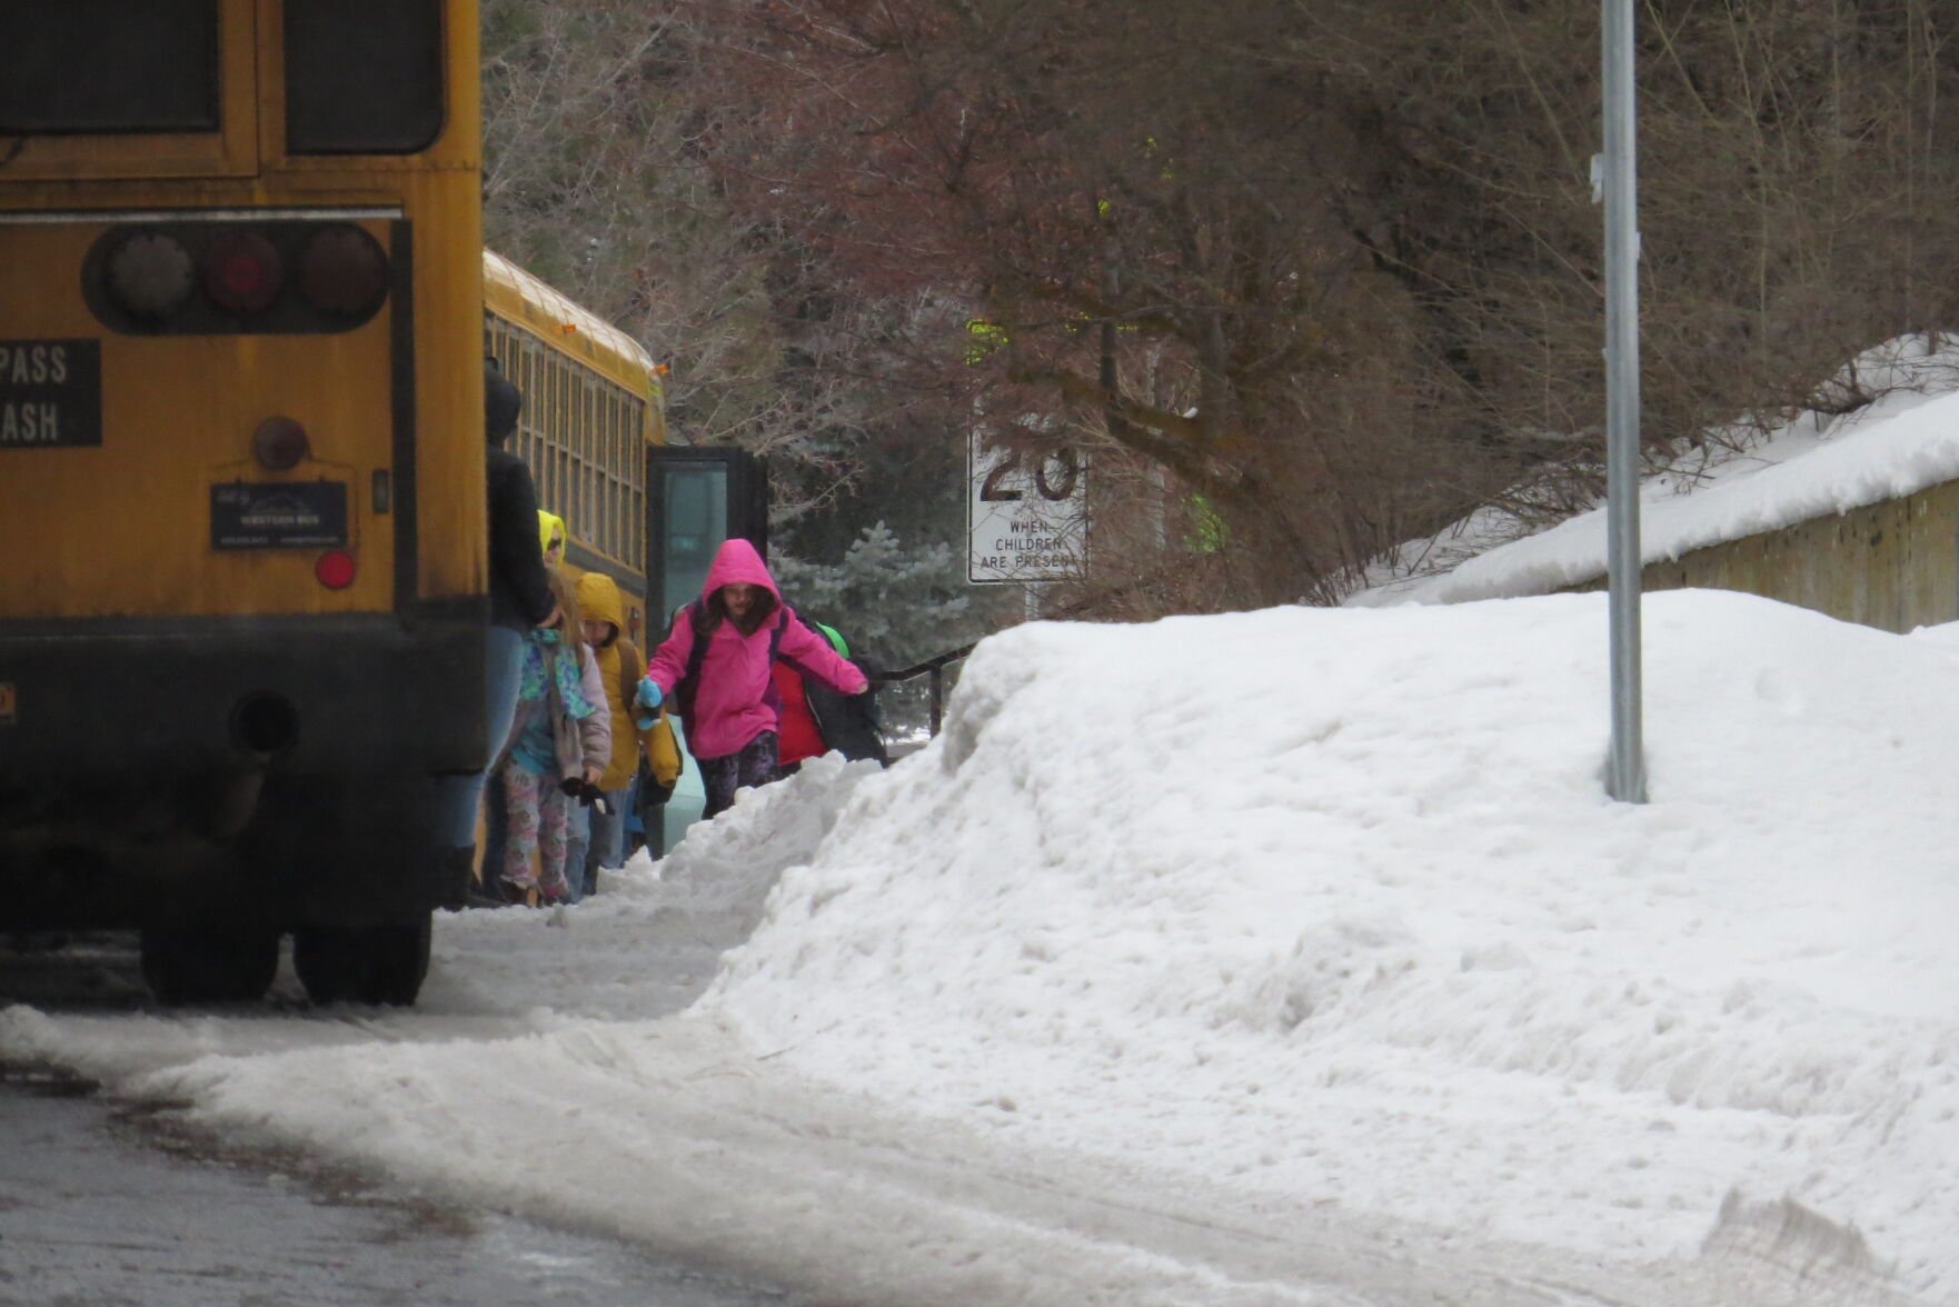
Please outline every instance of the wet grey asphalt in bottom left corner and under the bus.
[[[10, 984], [27, 976], [31, 997]], [[100, 966], [78, 968], [72, 992], [63, 984], [59, 962], [0, 950], [0, 1005], [141, 1001]], [[625, 1244], [390, 1193], [308, 1158], [219, 1154], [92, 1086], [0, 1064], [0, 1305], [123, 1303], [793, 1307]]]

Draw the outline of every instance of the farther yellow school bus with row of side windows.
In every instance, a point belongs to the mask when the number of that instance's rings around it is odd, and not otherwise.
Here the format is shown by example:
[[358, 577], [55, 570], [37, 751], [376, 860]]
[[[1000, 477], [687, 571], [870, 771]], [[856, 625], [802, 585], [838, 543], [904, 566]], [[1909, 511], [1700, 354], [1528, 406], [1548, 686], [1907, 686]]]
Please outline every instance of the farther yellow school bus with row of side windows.
[[646, 451], [666, 443], [660, 366], [631, 335], [488, 249], [484, 353], [523, 392], [507, 449], [531, 464], [539, 506], [564, 519], [568, 568], [619, 582], [625, 635], [645, 647]]

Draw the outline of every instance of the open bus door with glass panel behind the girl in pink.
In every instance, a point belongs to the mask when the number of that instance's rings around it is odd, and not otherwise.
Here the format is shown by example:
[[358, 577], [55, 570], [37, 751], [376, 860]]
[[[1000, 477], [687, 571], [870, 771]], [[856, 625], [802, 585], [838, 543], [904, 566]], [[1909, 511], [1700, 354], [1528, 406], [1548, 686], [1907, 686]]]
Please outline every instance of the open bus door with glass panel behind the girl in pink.
[[701, 598], [723, 541], [744, 539], [768, 560], [768, 464], [741, 449], [656, 445], [646, 451], [648, 635]]

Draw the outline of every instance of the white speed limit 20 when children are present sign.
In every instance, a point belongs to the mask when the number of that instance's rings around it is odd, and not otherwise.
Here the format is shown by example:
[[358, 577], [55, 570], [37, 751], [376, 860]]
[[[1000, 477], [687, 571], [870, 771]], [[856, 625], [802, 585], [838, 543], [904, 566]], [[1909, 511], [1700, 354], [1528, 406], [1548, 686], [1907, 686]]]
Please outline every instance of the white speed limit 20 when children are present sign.
[[972, 433], [966, 523], [974, 584], [1064, 580], [1087, 560], [1089, 476], [1081, 453], [993, 445]]

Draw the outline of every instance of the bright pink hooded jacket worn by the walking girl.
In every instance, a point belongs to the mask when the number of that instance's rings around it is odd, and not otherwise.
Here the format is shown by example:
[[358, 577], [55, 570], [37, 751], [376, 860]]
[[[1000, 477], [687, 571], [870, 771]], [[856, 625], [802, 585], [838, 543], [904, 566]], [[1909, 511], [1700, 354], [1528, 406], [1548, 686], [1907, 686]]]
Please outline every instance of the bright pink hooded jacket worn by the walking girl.
[[[721, 545], [713, 566], [707, 568], [701, 600], [721, 586], [742, 582], [768, 590], [776, 598], [776, 609], [762, 619], [754, 635], [742, 635], [733, 621], [723, 621], [707, 637], [701, 680], [693, 688], [693, 735], [688, 739], [688, 750], [695, 758], [725, 758], [741, 752], [762, 731], [776, 729], [776, 680], [768, 666], [768, 645], [782, 615], [788, 615], [788, 625], [782, 629], [778, 654], [786, 662], [795, 662], [799, 672], [815, 676], [838, 694], [862, 694], [870, 686], [864, 672], [836, 656], [829, 641], [795, 619], [776, 590], [776, 578], [768, 574], [768, 566], [748, 541], [735, 539]], [[674, 686], [688, 670], [690, 653], [693, 653], [693, 605], [680, 611], [672, 633], [652, 651], [646, 666], [646, 676], [652, 676], [662, 696], [674, 694]]]

